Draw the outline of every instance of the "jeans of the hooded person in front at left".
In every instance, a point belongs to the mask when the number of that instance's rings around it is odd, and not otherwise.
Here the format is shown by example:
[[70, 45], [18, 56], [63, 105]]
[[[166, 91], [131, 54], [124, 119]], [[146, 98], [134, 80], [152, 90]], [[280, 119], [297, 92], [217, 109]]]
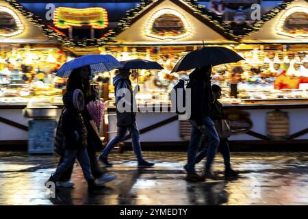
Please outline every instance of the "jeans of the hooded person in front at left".
[[65, 150], [63, 162], [57, 166], [57, 170], [53, 173], [53, 178], [59, 180], [61, 175], [73, 166], [76, 158], [82, 168], [84, 178], [87, 181], [92, 179], [90, 160], [84, 147], [78, 150]]

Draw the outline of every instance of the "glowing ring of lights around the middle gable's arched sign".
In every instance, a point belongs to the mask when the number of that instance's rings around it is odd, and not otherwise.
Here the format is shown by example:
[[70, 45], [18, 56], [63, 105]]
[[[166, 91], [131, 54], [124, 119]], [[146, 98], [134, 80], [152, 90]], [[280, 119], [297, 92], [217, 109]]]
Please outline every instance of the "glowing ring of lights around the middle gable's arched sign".
[[[178, 18], [181, 19], [181, 21], [183, 22], [183, 25], [184, 25], [183, 28], [185, 29], [185, 33], [179, 34], [178, 36], [159, 36], [157, 34], [153, 34], [152, 28], [153, 28], [153, 25], [154, 25], [156, 19], [161, 17], [161, 16], [169, 15], [169, 14], [177, 16]], [[183, 16], [183, 14], [181, 14], [177, 10], [174, 10], [174, 9], [171, 9], [171, 8], [164, 8], [164, 9], [158, 10], [157, 12], [155, 12], [151, 16], [151, 18], [149, 19], [149, 21], [148, 21], [148, 23], [146, 24], [146, 27], [145, 27], [145, 34], [146, 34], [146, 36], [149, 36], [149, 37], [152, 37], [152, 38], [157, 38], [157, 39], [160, 39], [160, 40], [166, 40], [166, 39], [177, 40], [177, 39], [189, 36], [190, 33], [191, 33], [191, 30], [192, 29], [191, 29], [190, 25], [188, 24], [186, 18]]]

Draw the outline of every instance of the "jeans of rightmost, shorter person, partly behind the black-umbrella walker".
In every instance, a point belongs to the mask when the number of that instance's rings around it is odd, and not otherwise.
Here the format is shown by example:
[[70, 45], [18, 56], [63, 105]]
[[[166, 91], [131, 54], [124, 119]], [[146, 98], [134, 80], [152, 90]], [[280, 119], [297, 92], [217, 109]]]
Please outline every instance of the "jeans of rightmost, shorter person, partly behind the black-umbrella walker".
[[[224, 158], [224, 168], [226, 170], [231, 169], [230, 149], [227, 139], [220, 139], [218, 151], [222, 154], [222, 157]], [[205, 143], [205, 147], [196, 156], [196, 161], [201, 161], [206, 156], [207, 156], [207, 143]]]

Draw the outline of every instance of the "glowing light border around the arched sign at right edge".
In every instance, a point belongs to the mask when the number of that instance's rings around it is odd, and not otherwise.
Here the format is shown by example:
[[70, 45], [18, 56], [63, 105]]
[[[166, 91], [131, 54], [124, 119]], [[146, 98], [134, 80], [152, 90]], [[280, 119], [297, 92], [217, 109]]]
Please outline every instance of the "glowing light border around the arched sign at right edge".
[[284, 12], [283, 15], [281, 15], [281, 18], [279, 19], [279, 22], [275, 28], [277, 31], [277, 34], [280, 34], [283, 36], [290, 36], [290, 37], [298, 37], [298, 36], [308, 37], [308, 34], [303, 34], [303, 33], [292, 34], [292, 33], [288, 33], [287, 31], [283, 29], [283, 25], [285, 24], [287, 17], [289, 17], [290, 15], [296, 12], [305, 13], [308, 15], [308, 8], [302, 7], [302, 6], [296, 6]]

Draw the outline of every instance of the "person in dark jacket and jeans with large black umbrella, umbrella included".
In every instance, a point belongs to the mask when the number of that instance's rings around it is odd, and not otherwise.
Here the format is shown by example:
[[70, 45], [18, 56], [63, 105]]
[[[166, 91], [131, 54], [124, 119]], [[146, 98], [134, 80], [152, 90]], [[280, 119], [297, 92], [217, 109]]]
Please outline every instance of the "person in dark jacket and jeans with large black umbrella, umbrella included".
[[[182, 57], [171, 71], [171, 73], [175, 73], [195, 68], [189, 75], [190, 81], [187, 86], [187, 88], [191, 89], [192, 94], [190, 97], [190, 123], [192, 125], [192, 132], [188, 146], [188, 162], [184, 166], [188, 181], [204, 181], [205, 178], [219, 179], [211, 171], [211, 166], [220, 142], [214, 122], [209, 117], [212, 110], [211, 105], [214, 102], [211, 91], [211, 67], [218, 64], [238, 62], [240, 60], [244, 59], [231, 49], [224, 47], [203, 47]], [[200, 176], [195, 171], [195, 164], [196, 151], [201, 144], [203, 135], [208, 139], [207, 161], [205, 163], [205, 172]]]

